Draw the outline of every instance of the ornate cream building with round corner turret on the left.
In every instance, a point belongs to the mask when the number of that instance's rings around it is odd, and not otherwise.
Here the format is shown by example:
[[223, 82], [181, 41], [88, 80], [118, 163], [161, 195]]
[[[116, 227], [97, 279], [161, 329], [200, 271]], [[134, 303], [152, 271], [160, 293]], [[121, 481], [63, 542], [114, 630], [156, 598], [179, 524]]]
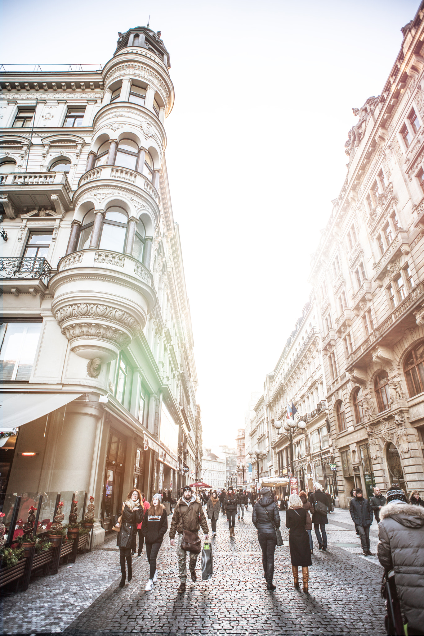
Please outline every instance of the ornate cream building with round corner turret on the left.
[[131, 487], [200, 477], [169, 69], [137, 27], [101, 70], [1, 81], [1, 486], [94, 495], [98, 540]]

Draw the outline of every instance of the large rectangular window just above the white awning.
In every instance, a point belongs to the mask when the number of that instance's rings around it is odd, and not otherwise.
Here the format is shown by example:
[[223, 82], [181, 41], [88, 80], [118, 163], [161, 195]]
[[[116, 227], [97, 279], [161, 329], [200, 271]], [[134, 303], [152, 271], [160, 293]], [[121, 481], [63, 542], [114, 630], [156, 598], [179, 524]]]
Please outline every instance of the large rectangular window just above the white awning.
[[41, 322], [3, 322], [0, 326], [0, 380], [29, 380]]

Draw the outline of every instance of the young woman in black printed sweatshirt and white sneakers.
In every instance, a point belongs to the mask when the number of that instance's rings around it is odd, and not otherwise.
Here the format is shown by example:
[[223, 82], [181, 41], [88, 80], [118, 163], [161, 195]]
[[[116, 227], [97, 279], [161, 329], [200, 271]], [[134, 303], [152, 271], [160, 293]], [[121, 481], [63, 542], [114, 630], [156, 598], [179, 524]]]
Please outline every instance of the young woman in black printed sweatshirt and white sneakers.
[[161, 503], [161, 499], [162, 495], [159, 493], [153, 495], [152, 505], [146, 515], [144, 515], [142, 525], [142, 533], [146, 542], [147, 561], [150, 565], [149, 579], [145, 588], [146, 592], [153, 590], [153, 584], [158, 580], [156, 559], [165, 532], [168, 530], [168, 514], [165, 506]]

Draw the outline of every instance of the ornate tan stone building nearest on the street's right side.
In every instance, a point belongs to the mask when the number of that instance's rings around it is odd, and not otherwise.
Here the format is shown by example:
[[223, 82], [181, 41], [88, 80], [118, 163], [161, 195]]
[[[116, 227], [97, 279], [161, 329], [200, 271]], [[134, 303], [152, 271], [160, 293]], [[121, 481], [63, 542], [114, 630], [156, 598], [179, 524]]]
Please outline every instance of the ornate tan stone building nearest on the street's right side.
[[381, 94], [353, 109], [345, 182], [313, 257], [342, 506], [424, 490], [424, 3]]

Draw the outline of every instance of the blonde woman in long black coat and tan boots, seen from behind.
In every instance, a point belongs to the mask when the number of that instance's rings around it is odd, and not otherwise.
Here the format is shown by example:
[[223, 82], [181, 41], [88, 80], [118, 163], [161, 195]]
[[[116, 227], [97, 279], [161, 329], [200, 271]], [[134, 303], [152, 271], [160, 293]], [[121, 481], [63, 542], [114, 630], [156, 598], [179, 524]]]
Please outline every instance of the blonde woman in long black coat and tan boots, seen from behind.
[[306, 532], [306, 515], [299, 495], [290, 495], [289, 509], [285, 513], [285, 527], [289, 528], [289, 548], [294, 587], [299, 587], [299, 565], [302, 568], [303, 591], [308, 593], [309, 569], [312, 565], [309, 536]]

